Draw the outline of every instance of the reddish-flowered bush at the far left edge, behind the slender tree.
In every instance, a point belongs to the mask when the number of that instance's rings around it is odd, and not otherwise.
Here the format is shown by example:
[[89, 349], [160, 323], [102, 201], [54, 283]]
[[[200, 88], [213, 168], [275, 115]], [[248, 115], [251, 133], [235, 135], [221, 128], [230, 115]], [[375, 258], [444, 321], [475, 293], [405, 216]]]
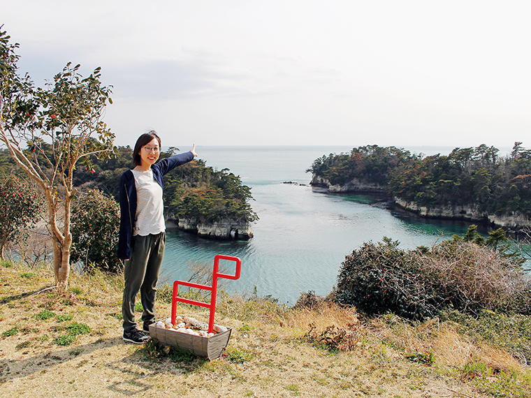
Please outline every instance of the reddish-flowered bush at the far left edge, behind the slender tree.
[[40, 193], [15, 175], [0, 182], [0, 258], [8, 242], [27, 236], [24, 230], [33, 227], [43, 213]]

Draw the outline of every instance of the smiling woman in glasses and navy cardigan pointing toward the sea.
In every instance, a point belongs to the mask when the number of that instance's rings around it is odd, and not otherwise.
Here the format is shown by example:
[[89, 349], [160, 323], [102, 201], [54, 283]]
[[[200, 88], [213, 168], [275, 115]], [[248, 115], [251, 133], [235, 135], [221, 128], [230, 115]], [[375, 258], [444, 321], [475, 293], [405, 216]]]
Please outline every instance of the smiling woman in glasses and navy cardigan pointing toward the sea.
[[[194, 160], [196, 145], [190, 152], [177, 154], [159, 163], [161, 139], [154, 131], [140, 135], [133, 151], [135, 168], [127, 170], [119, 182], [120, 230], [118, 258], [124, 267], [124, 341], [142, 344], [149, 339], [149, 325], [155, 320], [157, 280], [166, 244], [162, 202], [162, 177], [178, 165]], [[135, 297], [140, 290], [144, 312], [143, 331], [136, 327]]]

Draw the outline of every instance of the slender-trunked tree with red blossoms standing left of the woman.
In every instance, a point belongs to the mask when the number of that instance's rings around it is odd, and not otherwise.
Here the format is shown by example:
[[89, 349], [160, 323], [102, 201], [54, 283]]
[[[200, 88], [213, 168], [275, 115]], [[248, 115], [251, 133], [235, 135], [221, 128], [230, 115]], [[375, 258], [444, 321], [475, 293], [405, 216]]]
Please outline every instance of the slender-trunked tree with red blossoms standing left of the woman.
[[75, 200], [73, 172], [90, 157], [108, 156], [115, 135], [103, 123], [111, 88], [100, 82], [100, 68], [88, 78], [80, 65], [63, 71], [35, 89], [29, 75], [17, 73], [18, 44], [0, 27], [0, 141], [15, 162], [45, 194], [53, 242], [54, 274], [59, 291], [68, 286], [72, 244], [71, 202]]

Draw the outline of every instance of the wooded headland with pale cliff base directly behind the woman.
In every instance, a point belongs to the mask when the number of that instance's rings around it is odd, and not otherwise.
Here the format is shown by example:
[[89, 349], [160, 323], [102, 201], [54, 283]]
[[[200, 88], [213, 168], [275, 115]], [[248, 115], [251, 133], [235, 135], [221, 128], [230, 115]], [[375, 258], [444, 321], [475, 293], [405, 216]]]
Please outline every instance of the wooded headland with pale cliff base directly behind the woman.
[[[170, 147], [161, 152], [160, 158], [171, 156], [177, 150]], [[133, 167], [132, 153], [129, 146], [117, 147], [108, 159], [93, 157], [75, 169], [74, 185], [80, 194], [99, 189], [118, 200], [118, 182]], [[24, 177], [8, 151], [0, 151], [0, 177], [12, 173]], [[240, 177], [226, 168], [214, 170], [201, 159], [184, 164], [164, 177], [163, 200], [167, 221], [203, 237], [249, 239], [252, 237], [250, 223], [258, 219], [249, 205], [251, 189], [242, 184]]]

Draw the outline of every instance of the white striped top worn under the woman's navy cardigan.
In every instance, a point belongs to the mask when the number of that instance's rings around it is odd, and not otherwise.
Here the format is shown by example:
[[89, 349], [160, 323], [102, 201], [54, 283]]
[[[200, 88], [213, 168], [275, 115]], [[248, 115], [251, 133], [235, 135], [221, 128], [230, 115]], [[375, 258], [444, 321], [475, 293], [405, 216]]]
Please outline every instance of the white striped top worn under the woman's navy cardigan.
[[136, 185], [136, 216], [133, 235], [157, 235], [166, 230], [162, 187], [154, 180], [151, 170], [131, 171]]

